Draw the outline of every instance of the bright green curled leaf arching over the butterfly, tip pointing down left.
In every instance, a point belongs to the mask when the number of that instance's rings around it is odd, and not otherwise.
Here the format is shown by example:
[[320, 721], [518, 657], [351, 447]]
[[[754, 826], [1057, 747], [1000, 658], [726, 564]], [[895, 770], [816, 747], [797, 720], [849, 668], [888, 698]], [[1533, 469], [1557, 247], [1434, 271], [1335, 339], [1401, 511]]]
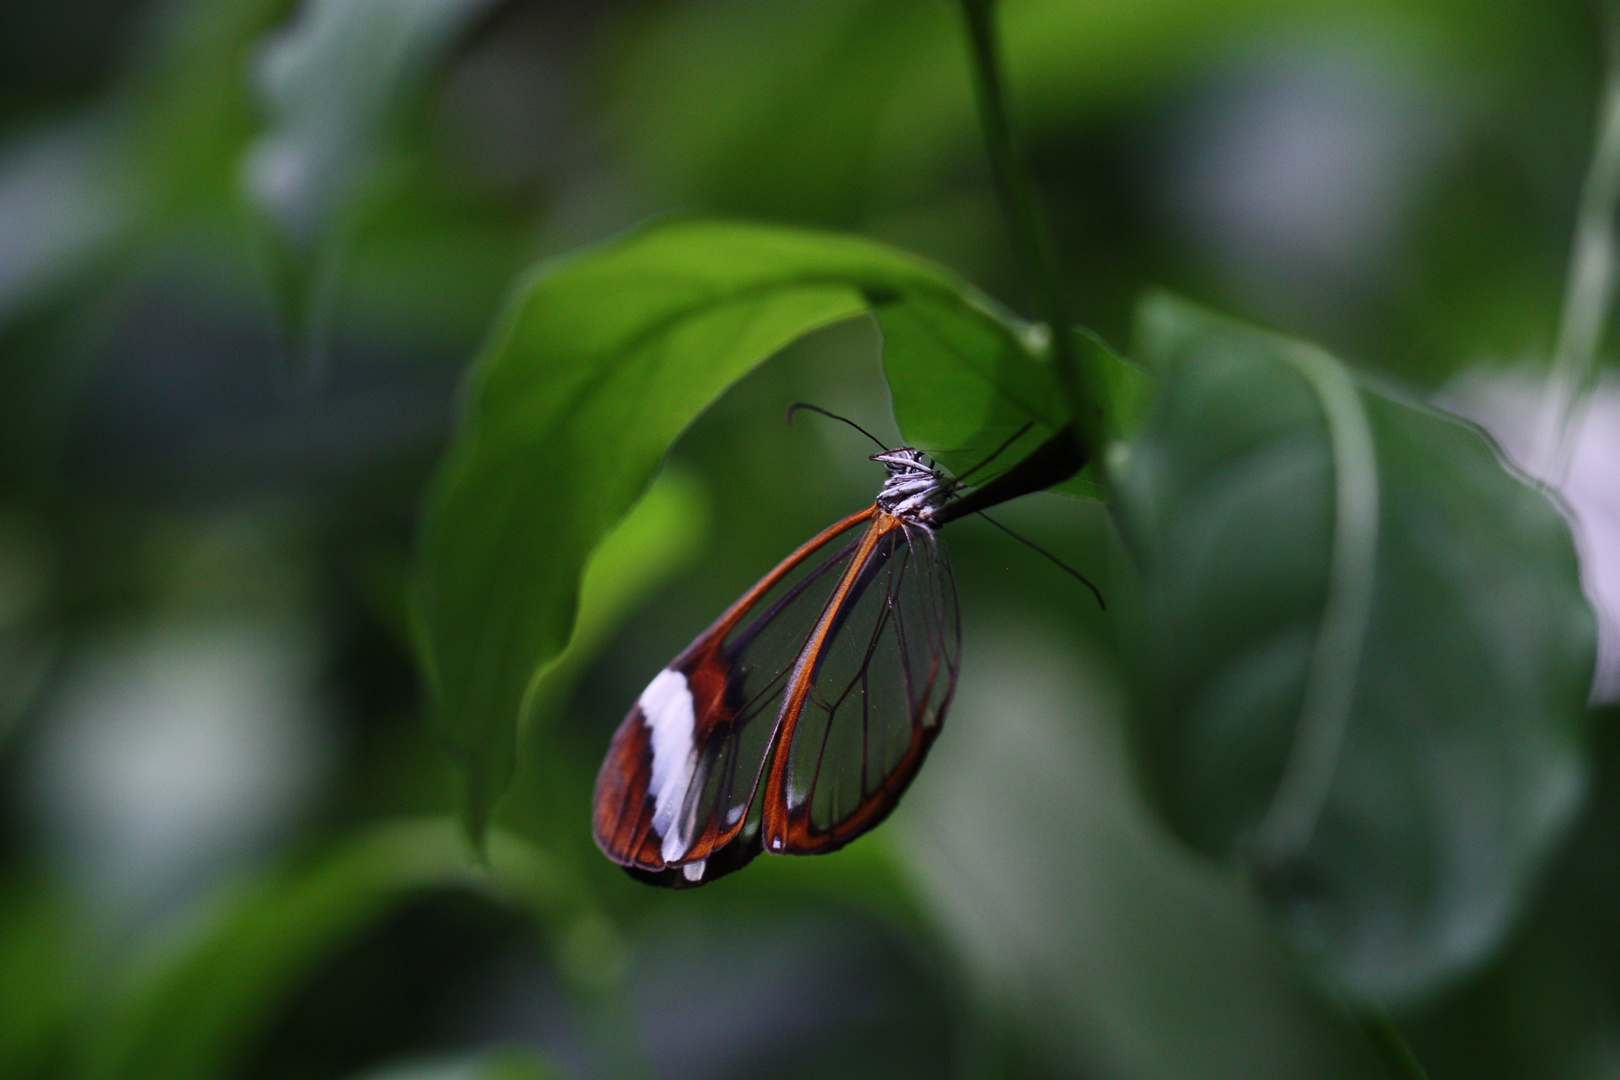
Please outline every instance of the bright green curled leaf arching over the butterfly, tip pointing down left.
[[585, 560], [664, 452], [763, 359], [868, 304], [907, 436], [974, 444], [948, 463], [1063, 421], [1029, 327], [862, 240], [676, 222], [520, 285], [471, 372], [420, 559], [420, 651], [473, 836], [510, 782], [523, 703], [569, 641]]

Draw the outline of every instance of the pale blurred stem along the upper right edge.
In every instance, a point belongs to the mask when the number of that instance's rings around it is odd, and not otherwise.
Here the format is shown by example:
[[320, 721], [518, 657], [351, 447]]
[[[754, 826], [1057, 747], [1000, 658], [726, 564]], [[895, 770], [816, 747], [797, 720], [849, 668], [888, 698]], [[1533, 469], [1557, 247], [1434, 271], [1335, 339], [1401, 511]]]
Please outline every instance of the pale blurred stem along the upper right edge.
[[1552, 377], [1542, 411], [1542, 481], [1563, 484], [1575, 453], [1581, 411], [1597, 382], [1597, 348], [1620, 280], [1615, 207], [1620, 204], [1620, 0], [1604, 0], [1604, 91], [1597, 105], [1597, 141], [1581, 185], [1570, 249], [1563, 314], [1552, 351]]

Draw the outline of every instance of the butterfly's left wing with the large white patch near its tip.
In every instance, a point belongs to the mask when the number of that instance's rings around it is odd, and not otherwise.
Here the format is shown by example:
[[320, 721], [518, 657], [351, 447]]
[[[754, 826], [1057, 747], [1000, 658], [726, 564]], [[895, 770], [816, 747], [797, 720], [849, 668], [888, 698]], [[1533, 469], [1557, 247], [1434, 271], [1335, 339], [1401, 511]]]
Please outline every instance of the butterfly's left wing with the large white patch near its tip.
[[596, 842], [609, 858], [687, 886], [758, 853], [748, 806], [782, 691], [862, 542], [849, 531], [873, 515], [868, 507], [799, 547], [642, 691], [596, 777]]

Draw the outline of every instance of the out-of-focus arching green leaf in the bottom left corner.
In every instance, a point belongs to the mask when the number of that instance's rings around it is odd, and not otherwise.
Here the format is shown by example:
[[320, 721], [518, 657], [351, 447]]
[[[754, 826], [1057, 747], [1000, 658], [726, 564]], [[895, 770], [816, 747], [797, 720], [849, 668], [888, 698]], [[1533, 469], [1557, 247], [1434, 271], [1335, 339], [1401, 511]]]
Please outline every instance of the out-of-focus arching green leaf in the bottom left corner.
[[233, 1075], [288, 988], [413, 891], [462, 884], [536, 912], [565, 899], [559, 868], [507, 834], [492, 837], [489, 866], [471, 865], [452, 823], [403, 823], [228, 891], [112, 988], [105, 1012], [89, 1017], [73, 1075]]

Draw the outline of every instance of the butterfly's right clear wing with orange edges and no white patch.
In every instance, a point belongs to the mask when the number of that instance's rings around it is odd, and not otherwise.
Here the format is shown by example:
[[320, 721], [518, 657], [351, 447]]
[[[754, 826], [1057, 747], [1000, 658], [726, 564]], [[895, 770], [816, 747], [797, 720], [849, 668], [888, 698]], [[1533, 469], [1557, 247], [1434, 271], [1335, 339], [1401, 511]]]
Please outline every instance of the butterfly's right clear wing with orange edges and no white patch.
[[831, 852], [883, 821], [956, 687], [956, 586], [933, 529], [881, 515], [855, 557], [791, 675], [761, 800], [771, 852]]

